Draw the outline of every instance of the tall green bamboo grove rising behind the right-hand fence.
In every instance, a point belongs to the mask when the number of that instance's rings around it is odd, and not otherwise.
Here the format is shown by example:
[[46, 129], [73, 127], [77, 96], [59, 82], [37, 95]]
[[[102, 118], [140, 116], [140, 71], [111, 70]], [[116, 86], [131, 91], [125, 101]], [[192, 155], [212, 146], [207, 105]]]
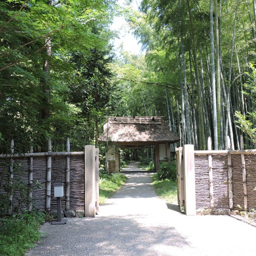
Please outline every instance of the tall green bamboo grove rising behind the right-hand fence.
[[155, 89], [147, 85], [149, 97], [162, 93], [166, 102], [168, 111], [155, 113], [168, 116], [182, 144], [196, 149], [206, 149], [208, 137], [215, 150], [225, 149], [228, 138], [239, 149], [243, 133], [253, 147], [255, 1], [143, 0], [140, 11], [127, 19], [146, 50], [146, 80], [155, 81]]

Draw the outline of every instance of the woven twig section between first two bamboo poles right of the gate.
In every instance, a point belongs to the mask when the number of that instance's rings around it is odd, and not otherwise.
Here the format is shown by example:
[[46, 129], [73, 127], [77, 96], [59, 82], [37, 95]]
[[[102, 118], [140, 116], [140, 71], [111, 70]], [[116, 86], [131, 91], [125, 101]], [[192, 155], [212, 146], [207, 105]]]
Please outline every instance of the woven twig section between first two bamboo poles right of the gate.
[[227, 155], [212, 157], [214, 208], [229, 208]]

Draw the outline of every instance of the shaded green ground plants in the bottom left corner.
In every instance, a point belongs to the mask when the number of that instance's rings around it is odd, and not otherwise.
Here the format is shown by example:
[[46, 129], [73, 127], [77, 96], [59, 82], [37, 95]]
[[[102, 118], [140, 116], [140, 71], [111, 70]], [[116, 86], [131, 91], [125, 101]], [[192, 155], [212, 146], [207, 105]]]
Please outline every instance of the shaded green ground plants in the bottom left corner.
[[22, 214], [0, 219], [0, 255], [24, 256], [41, 237], [44, 213]]

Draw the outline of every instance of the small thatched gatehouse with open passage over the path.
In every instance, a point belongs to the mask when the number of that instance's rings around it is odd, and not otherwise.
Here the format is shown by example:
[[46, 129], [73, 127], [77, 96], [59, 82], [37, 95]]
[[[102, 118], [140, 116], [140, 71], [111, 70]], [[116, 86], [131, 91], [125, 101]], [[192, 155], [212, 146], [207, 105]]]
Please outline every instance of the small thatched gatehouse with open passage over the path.
[[101, 140], [106, 143], [109, 172], [120, 171], [119, 153], [123, 149], [148, 149], [154, 155], [157, 171], [159, 162], [173, 157], [171, 144], [180, 141], [161, 116], [108, 117]]

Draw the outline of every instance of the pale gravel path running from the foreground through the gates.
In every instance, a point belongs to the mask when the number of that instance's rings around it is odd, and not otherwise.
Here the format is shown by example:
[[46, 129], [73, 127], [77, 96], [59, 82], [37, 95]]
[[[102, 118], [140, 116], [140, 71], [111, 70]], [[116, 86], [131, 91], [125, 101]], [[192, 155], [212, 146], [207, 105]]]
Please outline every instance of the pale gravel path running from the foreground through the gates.
[[156, 196], [152, 174], [127, 176], [95, 218], [44, 224], [47, 234], [27, 256], [255, 254], [255, 227], [229, 216], [186, 216]]

